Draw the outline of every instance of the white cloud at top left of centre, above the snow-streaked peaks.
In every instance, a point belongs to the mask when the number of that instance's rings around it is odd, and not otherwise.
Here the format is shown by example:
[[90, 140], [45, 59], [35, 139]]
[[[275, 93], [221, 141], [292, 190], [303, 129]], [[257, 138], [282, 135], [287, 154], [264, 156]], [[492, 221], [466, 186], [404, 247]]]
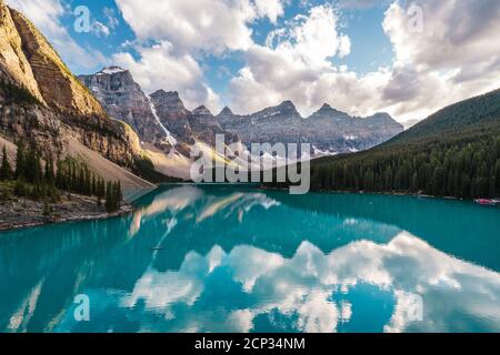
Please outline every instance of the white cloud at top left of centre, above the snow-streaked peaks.
[[117, 0], [117, 4], [139, 43], [160, 43], [141, 44], [139, 61], [118, 53], [113, 58], [118, 64], [130, 69], [146, 91], [179, 91], [187, 106], [206, 104], [212, 112], [221, 109], [220, 100], [196, 58], [247, 50], [253, 43], [252, 21], [276, 22], [283, 14], [283, 0], [168, 0], [154, 6]]

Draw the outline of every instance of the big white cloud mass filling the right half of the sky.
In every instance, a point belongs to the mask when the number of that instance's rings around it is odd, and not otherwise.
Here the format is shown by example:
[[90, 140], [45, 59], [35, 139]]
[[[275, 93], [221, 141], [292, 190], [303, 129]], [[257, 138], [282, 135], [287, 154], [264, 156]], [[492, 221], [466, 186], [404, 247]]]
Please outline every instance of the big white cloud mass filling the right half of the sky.
[[[369, 7], [371, 1], [343, 1], [348, 4]], [[421, 33], [409, 26], [410, 6], [423, 11]], [[402, 122], [424, 119], [498, 88], [499, 14], [500, 2], [493, 0], [394, 1], [383, 21], [394, 62], [358, 74], [329, 61], [348, 54], [351, 44], [339, 31], [336, 11], [312, 8], [308, 17], [272, 31], [267, 48], [252, 45], [246, 52], [246, 68], [230, 83], [232, 105], [248, 113], [290, 99], [303, 114], [327, 102], [351, 114], [387, 111]]]

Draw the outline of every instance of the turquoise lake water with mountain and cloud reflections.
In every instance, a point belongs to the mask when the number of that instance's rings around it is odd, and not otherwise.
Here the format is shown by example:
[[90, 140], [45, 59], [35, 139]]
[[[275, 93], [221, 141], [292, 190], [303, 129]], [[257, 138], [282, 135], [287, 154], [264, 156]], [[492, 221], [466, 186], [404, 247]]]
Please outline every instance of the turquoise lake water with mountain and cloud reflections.
[[0, 233], [0, 332], [500, 332], [500, 209], [196, 185], [137, 204]]

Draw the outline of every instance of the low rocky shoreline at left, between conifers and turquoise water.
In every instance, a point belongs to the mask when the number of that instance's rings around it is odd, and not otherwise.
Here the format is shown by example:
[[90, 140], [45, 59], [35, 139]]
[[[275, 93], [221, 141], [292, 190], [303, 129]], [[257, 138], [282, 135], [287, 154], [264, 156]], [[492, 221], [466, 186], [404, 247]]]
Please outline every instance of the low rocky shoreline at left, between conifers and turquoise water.
[[[64, 195], [62, 201], [50, 204], [47, 214], [42, 201], [12, 197], [0, 201], [0, 231], [21, 230], [51, 223], [104, 220], [133, 212], [133, 206], [123, 203], [119, 211], [106, 212], [98, 207], [94, 197], [77, 194]], [[44, 213], [46, 212], [46, 213]]]

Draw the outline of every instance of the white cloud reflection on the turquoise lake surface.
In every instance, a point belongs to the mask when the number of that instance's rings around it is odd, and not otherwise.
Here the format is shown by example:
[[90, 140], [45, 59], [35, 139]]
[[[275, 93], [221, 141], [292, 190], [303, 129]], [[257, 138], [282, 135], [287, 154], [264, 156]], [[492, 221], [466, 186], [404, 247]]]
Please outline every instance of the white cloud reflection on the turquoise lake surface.
[[[214, 267], [211, 260], [217, 260]], [[228, 283], [252, 285], [243, 288], [244, 306], [221, 303], [212, 312], [197, 304], [218, 268], [230, 270]], [[303, 242], [291, 258], [248, 245], [229, 254], [214, 246], [207, 256], [189, 253], [178, 272], [149, 267], [121, 302], [129, 308], [143, 302], [146, 312], [138, 318], [147, 325], [164, 316], [174, 320], [168, 325], [171, 329], [249, 332], [258, 316], [272, 324], [272, 314], [278, 313], [294, 331], [332, 333], [340, 323], [362, 316], [346, 300], [361, 284], [394, 297], [391, 318], [380, 324], [384, 332], [452, 332], [458, 311], [498, 328], [500, 275], [451, 257], [407, 232], [388, 244], [352, 242], [329, 254]], [[282, 324], [273, 325], [278, 329]]]

